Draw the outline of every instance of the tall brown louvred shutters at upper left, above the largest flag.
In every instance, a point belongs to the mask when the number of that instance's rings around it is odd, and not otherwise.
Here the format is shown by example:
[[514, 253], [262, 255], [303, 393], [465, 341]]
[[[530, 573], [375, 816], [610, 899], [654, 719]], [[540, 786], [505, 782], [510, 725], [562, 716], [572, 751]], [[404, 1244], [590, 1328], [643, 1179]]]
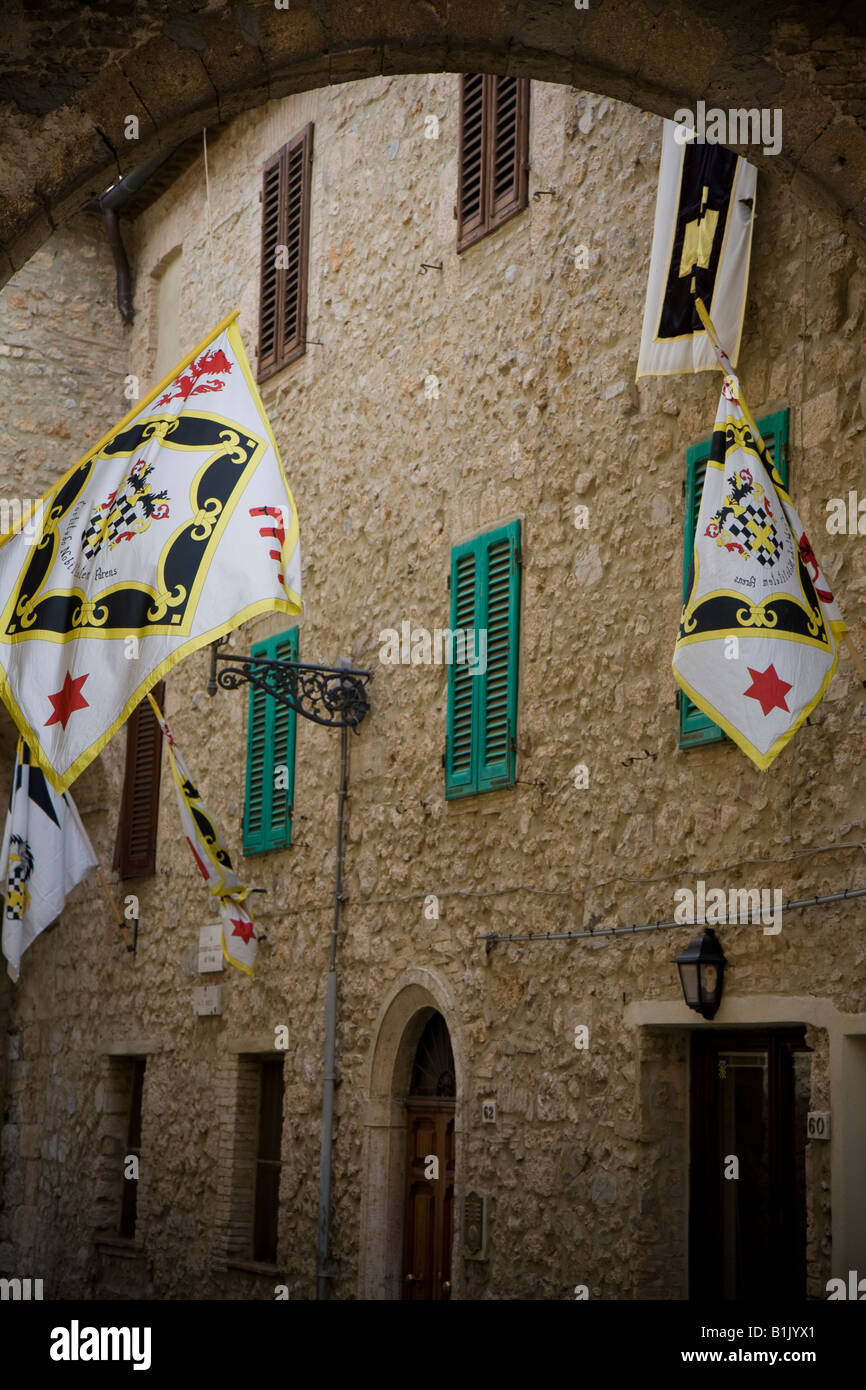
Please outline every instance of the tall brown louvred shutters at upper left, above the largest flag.
[[[306, 352], [311, 182], [310, 122], [271, 156], [263, 171], [259, 381]], [[281, 246], [286, 247], [279, 257], [288, 260], [286, 265], [277, 265]]]

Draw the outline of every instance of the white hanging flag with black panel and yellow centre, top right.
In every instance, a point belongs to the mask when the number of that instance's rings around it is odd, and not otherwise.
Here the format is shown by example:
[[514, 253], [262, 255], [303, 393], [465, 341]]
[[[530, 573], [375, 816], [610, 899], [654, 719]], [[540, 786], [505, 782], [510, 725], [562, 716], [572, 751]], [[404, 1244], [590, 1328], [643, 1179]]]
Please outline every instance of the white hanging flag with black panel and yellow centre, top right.
[[[716, 352], [695, 310], [708, 304], [737, 364], [758, 172], [723, 145], [664, 122], [637, 377], [709, 371]], [[730, 367], [728, 367], [730, 370]]]

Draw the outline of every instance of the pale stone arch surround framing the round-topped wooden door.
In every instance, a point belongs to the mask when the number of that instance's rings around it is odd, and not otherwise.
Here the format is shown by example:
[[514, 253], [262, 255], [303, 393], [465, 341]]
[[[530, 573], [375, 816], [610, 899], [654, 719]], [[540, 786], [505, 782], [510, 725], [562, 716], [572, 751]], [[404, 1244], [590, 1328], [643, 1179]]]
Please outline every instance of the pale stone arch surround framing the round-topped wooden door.
[[[373, 1034], [364, 1097], [364, 1154], [359, 1298], [400, 1297], [403, 1254], [403, 1198], [406, 1176], [406, 1105], [411, 1065], [424, 1026], [432, 1013], [448, 1026], [455, 1055], [456, 1169], [455, 1194], [460, 1212], [463, 1197], [463, 1113], [466, 1054], [457, 1006], [448, 983], [434, 970], [411, 967], [392, 986]], [[455, 1222], [455, 1298], [461, 1297], [460, 1219]]]

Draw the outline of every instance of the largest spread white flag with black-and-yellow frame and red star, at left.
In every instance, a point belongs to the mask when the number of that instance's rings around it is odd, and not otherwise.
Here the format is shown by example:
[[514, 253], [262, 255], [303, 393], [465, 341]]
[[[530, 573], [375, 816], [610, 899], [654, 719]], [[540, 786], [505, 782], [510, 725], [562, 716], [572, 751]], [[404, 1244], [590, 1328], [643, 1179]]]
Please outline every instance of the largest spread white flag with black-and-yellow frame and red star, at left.
[[36, 512], [0, 542], [0, 694], [57, 791], [177, 662], [300, 612], [297, 512], [235, 314]]

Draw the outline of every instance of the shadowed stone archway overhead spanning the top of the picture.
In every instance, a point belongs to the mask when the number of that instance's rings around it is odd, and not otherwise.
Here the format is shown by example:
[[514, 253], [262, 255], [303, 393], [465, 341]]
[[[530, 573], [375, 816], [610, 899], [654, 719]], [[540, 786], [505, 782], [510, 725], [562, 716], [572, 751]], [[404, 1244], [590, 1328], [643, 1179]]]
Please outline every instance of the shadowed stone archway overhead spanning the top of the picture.
[[[780, 107], [771, 160], [866, 232], [866, 7], [815, 0], [6, 0], [0, 284], [158, 150], [272, 97], [379, 74], [509, 72], [659, 115]], [[124, 138], [128, 115], [140, 139]], [[749, 150], [755, 163], [766, 163]]]

